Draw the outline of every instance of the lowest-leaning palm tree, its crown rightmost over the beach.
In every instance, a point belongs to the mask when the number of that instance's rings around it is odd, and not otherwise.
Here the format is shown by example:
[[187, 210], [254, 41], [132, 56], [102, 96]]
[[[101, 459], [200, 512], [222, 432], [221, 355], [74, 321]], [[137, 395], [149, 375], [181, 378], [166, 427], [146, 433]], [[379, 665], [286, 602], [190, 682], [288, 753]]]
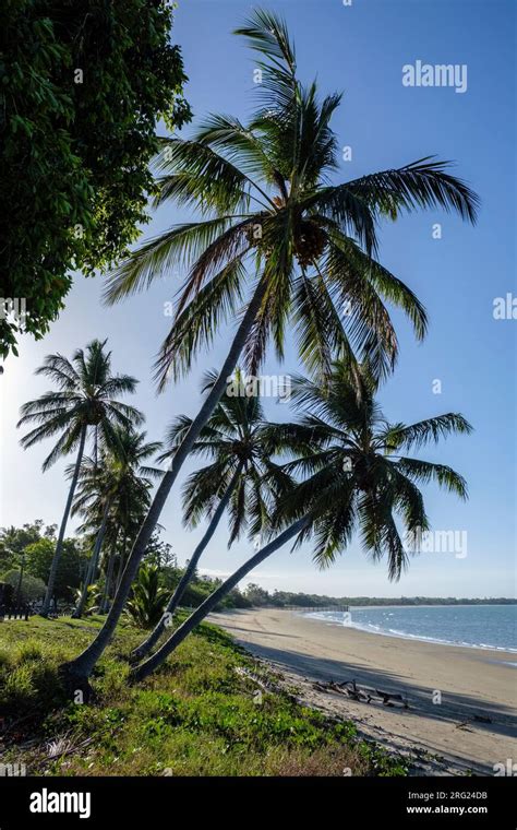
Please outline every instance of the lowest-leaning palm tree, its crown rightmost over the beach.
[[[421, 532], [429, 529], [418, 484], [434, 481], [467, 497], [464, 478], [449, 466], [404, 453], [452, 432], [468, 434], [468, 422], [448, 413], [410, 426], [389, 424], [375, 400], [377, 384], [370, 367], [363, 365], [359, 374], [358, 384], [351, 384], [349, 366], [340, 363], [335, 365], [326, 388], [312, 380], [298, 380], [294, 395], [304, 411], [303, 418], [270, 430], [272, 443], [278, 450], [298, 448], [299, 458], [288, 462], [286, 471], [308, 476], [278, 503], [273, 526], [280, 533], [137, 666], [133, 679], [157, 668], [229, 591], [287, 542], [294, 540], [296, 547], [312, 538], [314, 560], [325, 568], [359, 532], [365, 553], [373, 561], [386, 556], [388, 578], [398, 580], [408, 565], [408, 554], [417, 553]], [[409, 538], [406, 547], [396, 518]]]

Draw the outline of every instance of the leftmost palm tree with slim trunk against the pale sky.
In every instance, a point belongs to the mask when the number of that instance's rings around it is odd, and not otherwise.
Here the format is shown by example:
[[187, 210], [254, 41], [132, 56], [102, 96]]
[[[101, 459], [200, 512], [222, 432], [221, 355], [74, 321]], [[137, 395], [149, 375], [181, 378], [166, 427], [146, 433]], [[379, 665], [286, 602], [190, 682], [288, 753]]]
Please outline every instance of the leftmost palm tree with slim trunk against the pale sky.
[[48, 615], [53, 595], [64, 533], [88, 430], [94, 430], [96, 437], [100, 435], [105, 446], [113, 447], [117, 443], [115, 431], [117, 425], [129, 428], [132, 424], [141, 424], [143, 420], [143, 415], [139, 410], [118, 400], [121, 394], [134, 392], [137, 380], [130, 375], [111, 374], [111, 352], [106, 352], [106, 342], [92, 341], [85, 351], [79, 348], [72, 360], [68, 360], [60, 354], [47, 355], [43, 366], [36, 369], [36, 375], [50, 378], [58, 390], [46, 392], [35, 401], [28, 401], [21, 408], [22, 417], [17, 423], [19, 427], [37, 424], [21, 439], [24, 449], [59, 435], [57, 443], [43, 463], [44, 472], [58, 459], [76, 450], [75, 465], [41, 608], [43, 616]]

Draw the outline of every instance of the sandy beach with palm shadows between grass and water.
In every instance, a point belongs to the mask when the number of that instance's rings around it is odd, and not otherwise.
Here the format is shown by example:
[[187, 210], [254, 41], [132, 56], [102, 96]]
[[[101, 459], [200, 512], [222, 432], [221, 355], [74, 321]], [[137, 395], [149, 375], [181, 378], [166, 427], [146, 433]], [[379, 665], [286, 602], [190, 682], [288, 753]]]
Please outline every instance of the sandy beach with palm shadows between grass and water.
[[[353, 720], [361, 734], [408, 754], [418, 774], [494, 774], [517, 758], [515, 654], [371, 635], [289, 610], [213, 615], [310, 706]], [[400, 695], [357, 702], [317, 683], [356, 680]], [[438, 699], [441, 703], [433, 703]]]

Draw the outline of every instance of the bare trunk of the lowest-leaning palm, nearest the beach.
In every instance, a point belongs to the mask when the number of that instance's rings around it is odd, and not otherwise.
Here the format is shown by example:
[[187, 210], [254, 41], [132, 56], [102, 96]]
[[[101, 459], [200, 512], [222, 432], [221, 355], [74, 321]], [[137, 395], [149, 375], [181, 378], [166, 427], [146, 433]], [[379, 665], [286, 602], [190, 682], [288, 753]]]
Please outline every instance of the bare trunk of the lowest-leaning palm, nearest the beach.
[[255, 556], [252, 556], [251, 559], [248, 559], [244, 565], [241, 565], [241, 567], [236, 570], [235, 573], [229, 577], [226, 582], [224, 582], [219, 588], [214, 591], [201, 605], [199, 608], [196, 608], [193, 614], [190, 615], [188, 619], [181, 625], [170, 637], [166, 642], [163, 644], [158, 651], [156, 651], [151, 657], [148, 657], [145, 663], [142, 663], [140, 666], [136, 666], [136, 668], [133, 668], [133, 671], [130, 674], [130, 678], [132, 680], [143, 680], [147, 675], [149, 675], [152, 672], [155, 671], [158, 666], [164, 663], [165, 660], [169, 656], [169, 654], [185, 639], [188, 635], [194, 629], [214, 608], [216, 605], [227, 595], [229, 592], [249, 573], [253, 568], [256, 568], [257, 565], [264, 561], [264, 559], [267, 559], [268, 556], [274, 554], [278, 548], [280, 548], [282, 545], [286, 544], [286, 542], [289, 542], [293, 536], [297, 535], [297, 533], [300, 533], [303, 527], [305, 527], [309, 524], [309, 519], [304, 517], [303, 519], [299, 519], [294, 524], [291, 524], [290, 527], [285, 530], [282, 533], [279, 534], [273, 542], [269, 542], [268, 545], [262, 548], [262, 550], [258, 550]]

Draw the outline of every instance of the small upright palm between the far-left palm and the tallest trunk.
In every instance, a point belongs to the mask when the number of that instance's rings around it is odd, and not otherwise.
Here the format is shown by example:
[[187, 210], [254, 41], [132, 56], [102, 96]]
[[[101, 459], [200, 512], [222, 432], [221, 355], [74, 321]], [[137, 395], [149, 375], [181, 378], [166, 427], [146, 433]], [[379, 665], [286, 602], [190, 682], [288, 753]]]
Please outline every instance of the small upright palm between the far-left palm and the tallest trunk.
[[[134, 428], [115, 428], [112, 449], [104, 452], [100, 464], [97, 459], [83, 460], [80, 471], [77, 497], [72, 507], [72, 514], [80, 513], [84, 523], [79, 529], [85, 532], [96, 530], [95, 544], [89, 567], [83, 583], [81, 600], [73, 617], [81, 617], [87, 600], [88, 586], [95, 581], [100, 550], [108, 527], [109, 514], [117, 511], [117, 505], [132, 494], [135, 498], [144, 499], [148, 506], [152, 479], [161, 475], [161, 471], [143, 465], [143, 462], [160, 449], [159, 441], [146, 441], [146, 432], [137, 432]], [[69, 474], [72, 471], [69, 469]]]

